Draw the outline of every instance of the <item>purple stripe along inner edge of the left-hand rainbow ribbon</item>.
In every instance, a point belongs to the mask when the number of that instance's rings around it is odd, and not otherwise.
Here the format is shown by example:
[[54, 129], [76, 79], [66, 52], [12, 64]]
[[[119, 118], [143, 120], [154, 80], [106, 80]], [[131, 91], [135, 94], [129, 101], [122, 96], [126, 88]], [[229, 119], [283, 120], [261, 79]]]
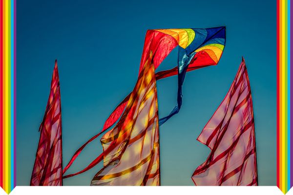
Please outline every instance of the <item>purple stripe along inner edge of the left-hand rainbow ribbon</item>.
[[13, 86], [13, 90], [14, 90], [14, 151], [13, 151], [13, 155], [14, 155], [14, 188], [16, 187], [16, 0], [14, 1], [14, 21], [13, 21], [13, 25], [14, 25], [14, 86]]

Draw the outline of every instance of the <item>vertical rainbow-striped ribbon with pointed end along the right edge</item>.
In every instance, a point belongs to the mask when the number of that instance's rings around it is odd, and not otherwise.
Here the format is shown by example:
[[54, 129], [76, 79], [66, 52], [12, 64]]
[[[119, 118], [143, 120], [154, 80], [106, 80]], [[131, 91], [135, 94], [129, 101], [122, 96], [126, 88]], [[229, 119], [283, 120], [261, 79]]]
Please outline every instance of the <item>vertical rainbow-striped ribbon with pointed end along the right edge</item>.
[[277, 0], [277, 186], [286, 194], [293, 184], [293, 135], [290, 132], [292, 107], [291, 12], [290, 0]]

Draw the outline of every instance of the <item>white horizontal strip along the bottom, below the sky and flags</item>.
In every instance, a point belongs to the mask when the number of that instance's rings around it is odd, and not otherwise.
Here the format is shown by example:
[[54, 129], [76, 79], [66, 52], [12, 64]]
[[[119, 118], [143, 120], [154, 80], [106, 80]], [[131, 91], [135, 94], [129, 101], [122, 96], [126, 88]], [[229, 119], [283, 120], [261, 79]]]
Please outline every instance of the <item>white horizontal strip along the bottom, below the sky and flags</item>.
[[[9, 195], [284, 195], [276, 186], [16, 186]], [[0, 188], [0, 195], [6, 193]], [[291, 189], [286, 195], [293, 195]]]

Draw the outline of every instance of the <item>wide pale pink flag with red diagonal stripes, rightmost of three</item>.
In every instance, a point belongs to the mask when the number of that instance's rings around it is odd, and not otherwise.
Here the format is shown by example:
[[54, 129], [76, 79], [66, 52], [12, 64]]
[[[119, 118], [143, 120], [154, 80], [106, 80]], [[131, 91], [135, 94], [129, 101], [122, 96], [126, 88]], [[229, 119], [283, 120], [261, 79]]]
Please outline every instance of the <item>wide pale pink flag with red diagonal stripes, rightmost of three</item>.
[[251, 88], [245, 61], [198, 141], [211, 153], [191, 177], [199, 186], [257, 185]]

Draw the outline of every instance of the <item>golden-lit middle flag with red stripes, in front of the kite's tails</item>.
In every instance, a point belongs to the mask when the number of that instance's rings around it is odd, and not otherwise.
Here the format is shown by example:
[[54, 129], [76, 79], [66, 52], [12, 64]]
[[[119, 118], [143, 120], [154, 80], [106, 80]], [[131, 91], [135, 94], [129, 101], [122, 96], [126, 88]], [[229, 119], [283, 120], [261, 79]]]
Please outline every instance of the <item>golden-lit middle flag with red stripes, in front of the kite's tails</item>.
[[[150, 53], [152, 55], [152, 53]], [[118, 124], [101, 139], [104, 168], [91, 185], [159, 185], [156, 79], [146, 61]]]

